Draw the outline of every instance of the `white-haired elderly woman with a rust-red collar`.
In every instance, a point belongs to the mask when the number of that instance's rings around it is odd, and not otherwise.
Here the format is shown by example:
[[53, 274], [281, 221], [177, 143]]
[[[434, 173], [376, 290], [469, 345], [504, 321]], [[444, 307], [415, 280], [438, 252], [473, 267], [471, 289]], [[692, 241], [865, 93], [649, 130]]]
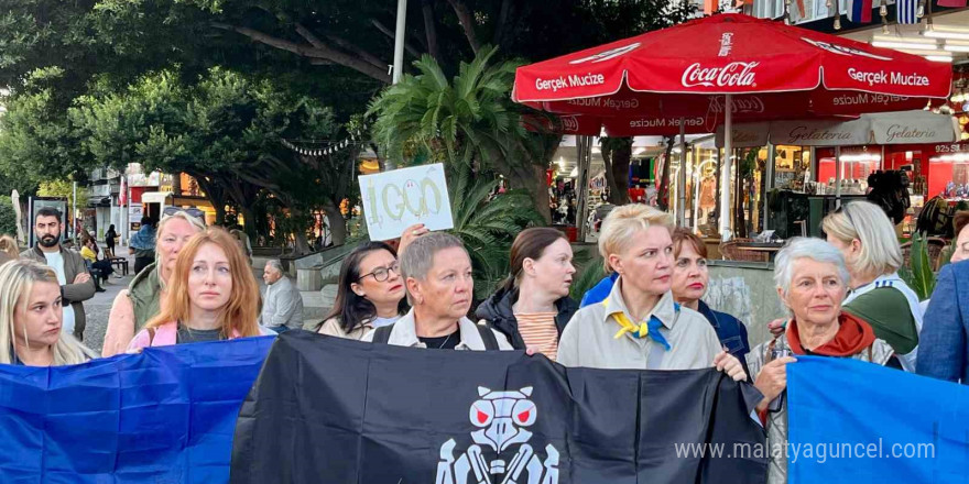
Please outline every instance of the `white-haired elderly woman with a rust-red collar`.
[[[820, 239], [794, 238], [777, 253], [774, 282], [777, 295], [793, 315], [784, 334], [754, 348], [748, 355], [754, 386], [764, 395], [758, 413], [765, 421], [770, 449], [786, 449], [786, 399], [771, 406], [787, 387], [786, 365], [794, 356], [850, 358], [884, 365], [892, 348], [875, 338], [867, 322], [841, 310], [849, 272], [841, 252]], [[796, 364], [796, 363], [794, 363]], [[771, 452], [769, 484], [787, 482], [786, 453]]]

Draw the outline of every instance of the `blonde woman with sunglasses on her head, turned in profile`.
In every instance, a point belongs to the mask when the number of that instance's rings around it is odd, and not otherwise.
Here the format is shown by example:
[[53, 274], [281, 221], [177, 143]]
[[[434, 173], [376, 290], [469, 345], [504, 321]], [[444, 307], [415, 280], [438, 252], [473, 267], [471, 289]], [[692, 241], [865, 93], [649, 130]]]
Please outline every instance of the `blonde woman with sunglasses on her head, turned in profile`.
[[889, 217], [874, 204], [854, 201], [825, 217], [821, 228], [851, 274], [845, 311], [871, 324], [892, 345], [902, 367], [914, 372], [923, 309], [899, 277], [902, 250]]

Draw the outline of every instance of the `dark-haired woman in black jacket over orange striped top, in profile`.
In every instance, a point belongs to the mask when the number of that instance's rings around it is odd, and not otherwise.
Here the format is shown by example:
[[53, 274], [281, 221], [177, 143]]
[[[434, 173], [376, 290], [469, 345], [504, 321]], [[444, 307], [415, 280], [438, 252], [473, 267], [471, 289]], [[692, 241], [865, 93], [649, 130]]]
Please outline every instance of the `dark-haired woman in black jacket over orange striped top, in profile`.
[[558, 339], [578, 305], [568, 297], [576, 270], [571, 246], [556, 229], [525, 229], [511, 245], [511, 275], [478, 306], [476, 316], [516, 350], [531, 349], [555, 361]]

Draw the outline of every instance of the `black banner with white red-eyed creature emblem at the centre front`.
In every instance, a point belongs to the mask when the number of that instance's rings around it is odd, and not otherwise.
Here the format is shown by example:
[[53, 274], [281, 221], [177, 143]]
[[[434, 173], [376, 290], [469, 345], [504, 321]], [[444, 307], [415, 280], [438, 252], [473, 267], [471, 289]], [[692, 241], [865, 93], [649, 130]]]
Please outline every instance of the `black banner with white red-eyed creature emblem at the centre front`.
[[765, 459], [733, 455], [764, 443], [760, 398], [715, 370], [566, 369], [288, 331], [242, 405], [231, 482], [762, 484]]

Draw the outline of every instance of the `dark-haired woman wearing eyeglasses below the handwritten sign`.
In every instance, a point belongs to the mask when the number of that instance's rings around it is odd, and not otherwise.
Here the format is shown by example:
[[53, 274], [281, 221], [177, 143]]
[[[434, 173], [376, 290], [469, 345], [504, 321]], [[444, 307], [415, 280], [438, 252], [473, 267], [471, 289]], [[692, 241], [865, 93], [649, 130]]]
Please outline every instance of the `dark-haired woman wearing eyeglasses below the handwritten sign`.
[[367, 242], [344, 258], [334, 309], [320, 334], [359, 340], [406, 312], [398, 254], [383, 242]]

